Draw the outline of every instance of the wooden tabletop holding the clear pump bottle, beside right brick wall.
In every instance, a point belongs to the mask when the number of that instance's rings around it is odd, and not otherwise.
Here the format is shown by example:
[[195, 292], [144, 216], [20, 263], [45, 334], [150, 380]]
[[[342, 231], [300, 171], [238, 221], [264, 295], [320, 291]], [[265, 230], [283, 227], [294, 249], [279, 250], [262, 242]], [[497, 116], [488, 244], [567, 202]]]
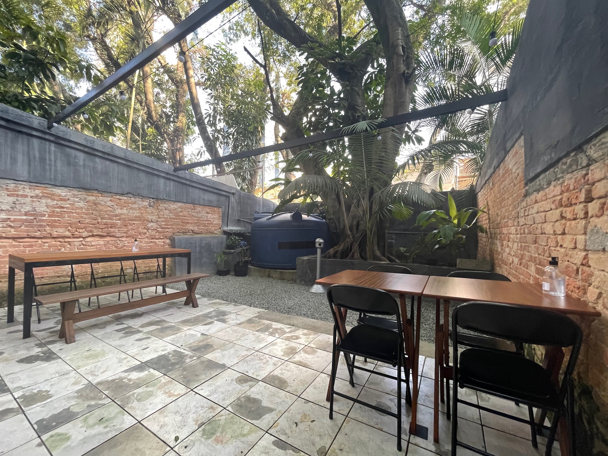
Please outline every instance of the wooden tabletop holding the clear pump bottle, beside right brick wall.
[[519, 304], [553, 310], [564, 314], [599, 317], [600, 313], [588, 303], [572, 296], [544, 294], [537, 283], [501, 282], [477, 278], [438, 277], [426, 283], [424, 297], [455, 301], [485, 301]]

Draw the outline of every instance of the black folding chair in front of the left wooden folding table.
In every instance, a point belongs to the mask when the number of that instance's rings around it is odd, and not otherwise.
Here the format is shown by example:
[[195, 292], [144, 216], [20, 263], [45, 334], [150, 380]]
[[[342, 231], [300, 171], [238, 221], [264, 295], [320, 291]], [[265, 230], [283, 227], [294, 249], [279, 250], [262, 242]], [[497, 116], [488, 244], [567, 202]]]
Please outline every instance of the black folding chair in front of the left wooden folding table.
[[[399, 304], [396, 302], [395, 298], [385, 291], [355, 285], [332, 285], [327, 291], [327, 299], [330, 302], [330, 311], [334, 317], [330, 420], [333, 420], [334, 416], [334, 395], [357, 402], [362, 406], [370, 407], [377, 412], [393, 416], [397, 419], [397, 449], [398, 451], [401, 451], [401, 382], [406, 383], [406, 399], [409, 398], [410, 403], [412, 396], [410, 393], [409, 370], [406, 367], [406, 355], [404, 353], [403, 330], [401, 328], [401, 319], [399, 318]], [[336, 307], [371, 315], [395, 316], [397, 330], [388, 330], [373, 325], [358, 325], [348, 331], [344, 338], [341, 338], [338, 342], [337, 331], [339, 328], [339, 320], [336, 314]], [[349, 373], [351, 373], [351, 369], [359, 369], [370, 372], [371, 374], [392, 378], [397, 381], [397, 413], [381, 409], [374, 404], [369, 404], [368, 402], [361, 401], [334, 390], [340, 351], [345, 354], [345, 358], [347, 358], [347, 354], [353, 356], [349, 366]], [[355, 365], [357, 356], [396, 366], [397, 376], [395, 377], [379, 371], [359, 367]], [[401, 367], [404, 367], [406, 372], [404, 379], [401, 378]]]

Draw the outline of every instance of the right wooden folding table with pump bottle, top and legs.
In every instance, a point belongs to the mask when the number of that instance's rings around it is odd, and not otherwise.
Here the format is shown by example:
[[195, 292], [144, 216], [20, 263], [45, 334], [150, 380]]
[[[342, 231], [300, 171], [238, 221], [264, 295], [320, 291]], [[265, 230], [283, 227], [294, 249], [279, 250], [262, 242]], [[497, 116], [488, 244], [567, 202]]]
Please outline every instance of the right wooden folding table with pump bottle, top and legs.
[[[452, 378], [449, 366], [449, 303], [455, 301], [483, 301], [515, 304], [547, 309], [564, 314], [599, 317], [600, 313], [589, 304], [572, 296], [551, 296], [544, 294], [541, 285], [535, 283], [500, 282], [475, 278], [437, 277], [429, 278], [423, 291], [424, 297], [435, 298], [435, 398], [433, 440], [439, 441], [439, 401], [443, 402], [443, 378]], [[440, 322], [440, 300], [443, 299], [443, 323]], [[545, 351], [543, 365], [551, 370], [554, 379], [559, 376], [564, 352]], [[449, 385], [449, 382], [447, 383]], [[449, 390], [449, 389], [448, 389]], [[449, 402], [449, 398], [447, 399]], [[542, 420], [544, 421], [544, 420]], [[562, 422], [560, 423], [562, 432]], [[565, 434], [562, 434], [565, 435]], [[562, 454], [568, 454], [567, 439], [560, 439]]]

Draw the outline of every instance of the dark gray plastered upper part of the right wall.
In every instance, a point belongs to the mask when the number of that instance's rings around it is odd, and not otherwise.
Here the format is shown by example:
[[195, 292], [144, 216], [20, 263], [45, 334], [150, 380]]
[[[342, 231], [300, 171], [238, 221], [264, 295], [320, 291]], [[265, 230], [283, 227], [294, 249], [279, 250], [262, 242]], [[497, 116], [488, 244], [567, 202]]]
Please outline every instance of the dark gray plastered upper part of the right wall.
[[530, 0], [477, 188], [523, 134], [530, 182], [608, 126], [608, 1]]

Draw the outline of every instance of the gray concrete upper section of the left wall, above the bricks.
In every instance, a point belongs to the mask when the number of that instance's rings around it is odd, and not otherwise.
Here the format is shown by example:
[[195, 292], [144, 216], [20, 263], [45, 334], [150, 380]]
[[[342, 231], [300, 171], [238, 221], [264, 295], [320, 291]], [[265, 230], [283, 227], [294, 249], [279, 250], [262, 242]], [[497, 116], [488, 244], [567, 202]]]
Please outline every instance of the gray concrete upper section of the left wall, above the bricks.
[[0, 105], [0, 178], [222, 208], [222, 226], [271, 211], [272, 201]]

